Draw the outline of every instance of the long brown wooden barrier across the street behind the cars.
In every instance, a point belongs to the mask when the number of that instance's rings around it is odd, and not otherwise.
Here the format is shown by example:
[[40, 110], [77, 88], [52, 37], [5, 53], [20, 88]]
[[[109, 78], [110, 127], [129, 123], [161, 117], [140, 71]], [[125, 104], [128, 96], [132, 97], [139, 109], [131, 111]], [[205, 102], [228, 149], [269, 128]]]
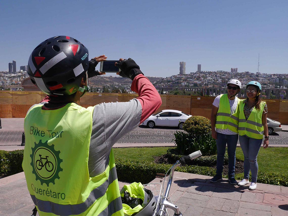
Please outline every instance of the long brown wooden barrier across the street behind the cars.
[[[215, 97], [160, 95], [162, 105], [156, 111], [165, 109], [180, 110], [191, 115], [200, 115], [210, 119], [212, 103]], [[0, 91], [0, 118], [24, 118], [33, 104], [45, 97], [40, 91]], [[83, 107], [108, 102], [126, 102], [138, 97], [138, 94], [127, 93], [86, 93], [77, 102]], [[282, 124], [288, 124], [288, 100], [265, 99], [268, 106], [268, 117]]]

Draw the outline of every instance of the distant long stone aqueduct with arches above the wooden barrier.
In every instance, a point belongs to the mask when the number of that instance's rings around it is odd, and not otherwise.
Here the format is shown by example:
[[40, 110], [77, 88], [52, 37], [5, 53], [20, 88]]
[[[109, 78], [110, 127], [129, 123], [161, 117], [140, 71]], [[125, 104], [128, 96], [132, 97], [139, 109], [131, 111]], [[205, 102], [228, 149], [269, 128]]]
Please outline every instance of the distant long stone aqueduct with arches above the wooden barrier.
[[[174, 90], [178, 90], [178, 91], [194, 91], [196, 92], [201, 92], [203, 90], [203, 88], [201, 87], [156, 87], [157, 90], [161, 91], [163, 89], [163, 91], [174, 91]], [[288, 94], [288, 89], [262, 89], [262, 93], [266, 92], [266, 99], [271, 99], [271, 95], [275, 95], [275, 99], [281, 99], [280, 98], [280, 93], [281, 91], [286, 91]], [[241, 88], [241, 91], [244, 92], [244, 97], [246, 96], [246, 89], [245, 88]], [[241, 97], [241, 91], [238, 93], [238, 97]], [[227, 89], [226, 88], [205, 88], [205, 95], [213, 95], [213, 93], [215, 93], [215, 95], [219, 95], [219, 94], [225, 94], [227, 93]], [[261, 95], [262, 95], [261, 93]], [[242, 96], [243, 97], [243, 96]], [[286, 99], [288, 99], [288, 97], [286, 97]]]

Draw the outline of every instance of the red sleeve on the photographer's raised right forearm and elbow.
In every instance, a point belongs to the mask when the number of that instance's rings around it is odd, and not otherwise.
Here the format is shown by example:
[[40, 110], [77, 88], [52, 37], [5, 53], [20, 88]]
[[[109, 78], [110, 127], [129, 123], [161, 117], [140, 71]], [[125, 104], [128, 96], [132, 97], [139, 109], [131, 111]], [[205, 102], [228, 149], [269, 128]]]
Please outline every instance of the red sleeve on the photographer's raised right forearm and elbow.
[[161, 97], [147, 77], [140, 74], [132, 82], [131, 90], [138, 93], [142, 106], [140, 124], [153, 114], [162, 104]]

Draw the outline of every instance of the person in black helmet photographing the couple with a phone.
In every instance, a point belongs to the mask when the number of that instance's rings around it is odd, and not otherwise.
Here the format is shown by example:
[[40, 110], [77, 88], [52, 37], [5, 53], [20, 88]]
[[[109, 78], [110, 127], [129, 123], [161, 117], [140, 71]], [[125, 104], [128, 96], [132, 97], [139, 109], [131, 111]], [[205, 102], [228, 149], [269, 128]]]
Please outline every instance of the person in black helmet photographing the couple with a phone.
[[22, 167], [39, 215], [124, 215], [112, 146], [161, 105], [158, 91], [133, 59], [115, 63], [139, 97], [129, 102], [77, 104], [101, 55], [69, 36], [51, 37], [31, 53], [28, 74], [47, 96], [24, 120]]

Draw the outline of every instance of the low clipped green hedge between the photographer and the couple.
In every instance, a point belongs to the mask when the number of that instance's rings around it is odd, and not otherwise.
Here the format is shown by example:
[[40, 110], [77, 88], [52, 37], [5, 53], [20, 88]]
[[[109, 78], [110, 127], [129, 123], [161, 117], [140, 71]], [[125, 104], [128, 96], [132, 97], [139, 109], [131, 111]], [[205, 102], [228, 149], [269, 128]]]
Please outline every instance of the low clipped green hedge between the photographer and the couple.
[[[155, 179], [156, 173], [166, 173], [172, 164], [156, 164], [147, 161], [115, 161], [118, 180], [127, 182], [141, 182], [147, 184]], [[214, 176], [215, 169], [204, 166], [183, 166], [177, 167], [175, 171], [187, 172], [200, 175]]]

